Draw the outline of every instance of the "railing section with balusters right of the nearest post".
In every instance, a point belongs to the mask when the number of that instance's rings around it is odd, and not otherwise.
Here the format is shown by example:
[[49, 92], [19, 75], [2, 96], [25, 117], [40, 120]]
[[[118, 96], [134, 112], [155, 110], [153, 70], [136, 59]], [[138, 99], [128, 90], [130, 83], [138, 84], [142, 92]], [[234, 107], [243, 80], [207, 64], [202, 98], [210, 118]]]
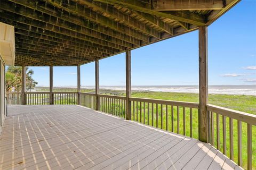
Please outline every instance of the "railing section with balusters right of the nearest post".
[[210, 143], [239, 166], [247, 164], [247, 169], [252, 169], [252, 128], [256, 132], [256, 115], [210, 104], [207, 111]]

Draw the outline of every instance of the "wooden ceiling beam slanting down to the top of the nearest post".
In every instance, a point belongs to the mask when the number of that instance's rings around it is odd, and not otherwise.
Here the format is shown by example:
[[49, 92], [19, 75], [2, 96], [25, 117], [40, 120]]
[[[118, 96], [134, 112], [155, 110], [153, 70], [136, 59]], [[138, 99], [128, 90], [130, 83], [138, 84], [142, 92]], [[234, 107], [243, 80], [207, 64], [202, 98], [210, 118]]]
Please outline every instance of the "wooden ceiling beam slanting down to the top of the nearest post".
[[144, 3], [141, 1], [115, 1], [115, 0], [94, 0], [102, 3], [107, 3], [111, 5], [123, 6], [126, 8], [130, 8], [131, 10], [148, 13], [151, 15], [156, 15], [158, 17], [165, 17], [175, 21], [187, 22], [190, 24], [202, 26], [205, 25], [205, 17], [198, 15], [196, 13], [192, 13], [189, 11], [154, 11], [148, 3]]

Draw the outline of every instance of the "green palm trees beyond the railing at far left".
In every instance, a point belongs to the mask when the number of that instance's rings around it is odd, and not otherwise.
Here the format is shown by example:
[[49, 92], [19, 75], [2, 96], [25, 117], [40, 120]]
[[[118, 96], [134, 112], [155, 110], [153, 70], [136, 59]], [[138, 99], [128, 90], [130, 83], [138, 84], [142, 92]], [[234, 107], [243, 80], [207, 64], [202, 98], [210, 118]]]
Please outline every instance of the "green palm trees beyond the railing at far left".
[[[26, 67], [26, 89], [31, 91], [34, 89], [36, 84], [38, 84], [33, 78], [33, 70], [28, 71]], [[6, 91], [11, 91], [12, 87], [15, 88], [15, 91], [21, 91], [22, 84], [22, 67], [19, 66], [9, 66], [6, 70]]]

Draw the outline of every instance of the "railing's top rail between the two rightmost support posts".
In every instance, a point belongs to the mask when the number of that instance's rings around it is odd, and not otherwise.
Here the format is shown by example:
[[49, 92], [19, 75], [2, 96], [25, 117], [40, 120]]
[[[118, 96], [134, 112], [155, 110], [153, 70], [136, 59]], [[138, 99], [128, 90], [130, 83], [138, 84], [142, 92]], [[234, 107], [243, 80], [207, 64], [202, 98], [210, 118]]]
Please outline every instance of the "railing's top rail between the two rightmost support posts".
[[130, 101], [142, 101], [142, 102], [148, 102], [148, 103], [182, 106], [182, 107], [191, 107], [191, 108], [198, 108], [199, 107], [198, 103], [185, 102], [185, 101], [174, 101], [174, 100], [161, 100], [161, 99], [130, 97]]

